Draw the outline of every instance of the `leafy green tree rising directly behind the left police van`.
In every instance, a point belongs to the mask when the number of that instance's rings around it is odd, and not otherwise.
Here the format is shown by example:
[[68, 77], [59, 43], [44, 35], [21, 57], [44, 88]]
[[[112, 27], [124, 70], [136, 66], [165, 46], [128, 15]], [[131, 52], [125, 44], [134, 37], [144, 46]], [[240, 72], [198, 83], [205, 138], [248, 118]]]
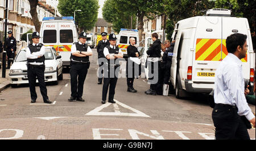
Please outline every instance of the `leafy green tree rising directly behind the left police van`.
[[76, 11], [76, 20], [79, 27], [84, 31], [91, 30], [97, 22], [98, 0], [59, 0], [57, 8], [63, 16], [73, 16]]

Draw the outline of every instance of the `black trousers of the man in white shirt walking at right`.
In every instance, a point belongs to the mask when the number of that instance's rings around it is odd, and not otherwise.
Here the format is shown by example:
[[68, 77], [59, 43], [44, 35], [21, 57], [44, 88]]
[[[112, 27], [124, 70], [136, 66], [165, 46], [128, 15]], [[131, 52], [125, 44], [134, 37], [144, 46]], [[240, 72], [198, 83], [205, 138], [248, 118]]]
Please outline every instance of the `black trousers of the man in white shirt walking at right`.
[[212, 111], [216, 140], [250, 140], [245, 123], [237, 114], [237, 108], [215, 104]]

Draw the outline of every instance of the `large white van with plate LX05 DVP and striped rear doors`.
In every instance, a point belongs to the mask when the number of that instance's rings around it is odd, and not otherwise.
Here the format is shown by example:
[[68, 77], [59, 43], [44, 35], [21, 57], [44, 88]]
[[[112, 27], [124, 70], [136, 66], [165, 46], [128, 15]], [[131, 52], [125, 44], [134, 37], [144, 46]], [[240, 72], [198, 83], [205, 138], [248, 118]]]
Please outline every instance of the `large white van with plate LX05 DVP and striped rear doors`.
[[228, 55], [226, 37], [233, 33], [247, 35], [248, 50], [242, 58], [243, 77], [253, 85], [253, 44], [246, 18], [231, 17], [230, 10], [208, 10], [206, 16], [195, 16], [175, 24], [175, 41], [170, 81], [176, 98], [189, 93], [210, 93], [220, 62]]

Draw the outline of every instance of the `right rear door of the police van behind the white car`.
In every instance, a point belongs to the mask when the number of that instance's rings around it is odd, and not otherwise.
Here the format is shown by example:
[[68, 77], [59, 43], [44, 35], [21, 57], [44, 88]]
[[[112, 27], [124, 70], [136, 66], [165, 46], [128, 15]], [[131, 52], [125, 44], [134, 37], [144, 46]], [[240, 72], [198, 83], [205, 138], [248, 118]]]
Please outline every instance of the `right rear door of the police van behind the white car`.
[[[69, 61], [71, 46], [75, 42], [73, 36], [75, 36], [75, 31], [73, 31], [72, 22], [59, 22], [59, 46], [57, 51], [61, 55], [62, 60]], [[67, 53], [69, 53], [67, 55]]]

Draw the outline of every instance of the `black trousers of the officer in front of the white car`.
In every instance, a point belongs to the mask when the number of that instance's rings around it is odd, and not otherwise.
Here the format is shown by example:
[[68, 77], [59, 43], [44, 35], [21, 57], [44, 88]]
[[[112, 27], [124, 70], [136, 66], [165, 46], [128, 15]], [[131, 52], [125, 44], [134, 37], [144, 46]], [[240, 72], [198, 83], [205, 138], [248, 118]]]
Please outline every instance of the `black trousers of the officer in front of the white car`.
[[38, 96], [36, 95], [36, 77], [38, 77], [40, 92], [42, 94], [44, 102], [48, 99], [46, 82], [44, 82], [44, 65], [29, 65], [27, 69], [28, 83], [30, 86], [30, 95], [32, 100], [36, 100]]

